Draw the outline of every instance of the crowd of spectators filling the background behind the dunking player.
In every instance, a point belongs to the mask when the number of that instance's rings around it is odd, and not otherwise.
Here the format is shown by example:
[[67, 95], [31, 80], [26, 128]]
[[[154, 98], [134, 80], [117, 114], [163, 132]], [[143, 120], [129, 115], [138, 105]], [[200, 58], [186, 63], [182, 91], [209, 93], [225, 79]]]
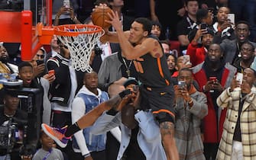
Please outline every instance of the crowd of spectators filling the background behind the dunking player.
[[[151, 34], [160, 40], [174, 85], [175, 139], [180, 159], [255, 158], [254, 139], [251, 138], [255, 128], [249, 124], [254, 124], [252, 122], [256, 119], [256, 70], [251, 67], [256, 64], [253, 9], [256, 2], [70, 0], [70, 7], [66, 8], [63, 1], [53, 1], [53, 25], [92, 24], [90, 14], [99, 3], [106, 3], [118, 12], [123, 30], [129, 30], [135, 18], [151, 20]], [[235, 23], [228, 19], [228, 14], [235, 14]], [[109, 30], [115, 31], [115, 28]], [[179, 46], [173, 48], [173, 42]], [[125, 58], [118, 43], [96, 44], [90, 59], [92, 73], [72, 68], [70, 50], [55, 35], [50, 47], [46, 46], [47, 50], [41, 47], [31, 62], [20, 62], [19, 45], [0, 44], [0, 73], [5, 78], [23, 80], [24, 88], [41, 90], [40, 123], [70, 126], [93, 107], [122, 91], [128, 78], [140, 80], [134, 60]], [[54, 74], [50, 74], [51, 70]], [[240, 85], [234, 80], [237, 73], [244, 75]], [[182, 82], [185, 83], [183, 86]], [[1, 94], [3, 108], [10, 105], [7, 98], [12, 97], [8, 93]], [[102, 133], [99, 129], [102, 134], [97, 136], [91, 133], [91, 129], [82, 130], [64, 149], [60, 146], [53, 148], [50, 137], [41, 131], [42, 146], [38, 147], [33, 159], [120, 159], [121, 136], [127, 130], [122, 123], [115, 126], [121, 126], [122, 130], [117, 127]], [[134, 142], [136, 138], [132, 138], [131, 142]], [[241, 147], [237, 154], [235, 146]], [[130, 157], [127, 154], [124, 153]], [[139, 154], [146, 159], [145, 153]], [[11, 156], [0, 149], [0, 160]]]

